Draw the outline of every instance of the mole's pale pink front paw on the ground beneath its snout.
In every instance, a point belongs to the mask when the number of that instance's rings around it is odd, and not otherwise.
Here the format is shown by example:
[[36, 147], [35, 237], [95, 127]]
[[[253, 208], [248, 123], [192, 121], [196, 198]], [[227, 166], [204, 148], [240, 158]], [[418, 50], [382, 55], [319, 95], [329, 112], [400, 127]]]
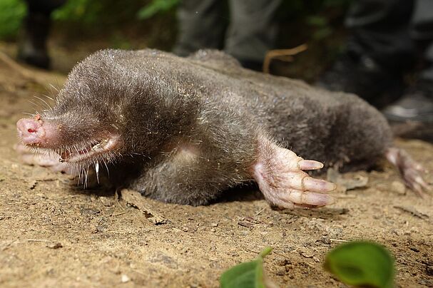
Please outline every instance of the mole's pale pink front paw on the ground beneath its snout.
[[22, 143], [16, 144], [14, 148], [19, 155], [19, 160], [27, 165], [39, 165], [56, 172], [73, 174], [70, 167], [58, 160], [58, 155], [34, 153], [34, 150]]

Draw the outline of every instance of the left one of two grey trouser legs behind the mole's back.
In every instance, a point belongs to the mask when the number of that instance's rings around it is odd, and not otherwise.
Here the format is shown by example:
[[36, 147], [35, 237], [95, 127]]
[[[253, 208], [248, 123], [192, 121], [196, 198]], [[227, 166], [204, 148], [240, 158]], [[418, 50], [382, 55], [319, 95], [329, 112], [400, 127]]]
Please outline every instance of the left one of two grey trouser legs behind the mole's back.
[[223, 1], [182, 0], [178, 8], [178, 39], [173, 52], [188, 56], [200, 48], [222, 48]]

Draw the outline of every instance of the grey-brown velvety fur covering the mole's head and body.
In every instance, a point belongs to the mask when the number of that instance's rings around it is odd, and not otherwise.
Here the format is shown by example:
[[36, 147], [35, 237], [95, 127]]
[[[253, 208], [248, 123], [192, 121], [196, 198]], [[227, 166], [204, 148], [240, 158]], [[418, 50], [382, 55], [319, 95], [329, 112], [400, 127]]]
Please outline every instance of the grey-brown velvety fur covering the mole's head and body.
[[98, 51], [46, 117], [61, 123], [64, 145], [119, 133], [110, 160], [139, 170], [123, 185], [190, 205], [252, 181], [261, 137], [325, 168], [369, 168], [392, 145], [387, 121], [357, 96], [249, 71], [219, 51]]

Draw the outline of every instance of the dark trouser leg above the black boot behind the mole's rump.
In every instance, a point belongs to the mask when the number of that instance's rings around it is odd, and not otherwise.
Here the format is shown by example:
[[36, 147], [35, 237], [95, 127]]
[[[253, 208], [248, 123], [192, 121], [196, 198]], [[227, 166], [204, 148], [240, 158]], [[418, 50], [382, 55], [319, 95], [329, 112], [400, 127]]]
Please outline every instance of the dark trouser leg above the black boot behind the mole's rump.
[[399, 71], [412, 66], [416, 53], [409, 34], [413, 6], [412, 0], [354, 1], [346, 20], [352, 29], [349, 51]]

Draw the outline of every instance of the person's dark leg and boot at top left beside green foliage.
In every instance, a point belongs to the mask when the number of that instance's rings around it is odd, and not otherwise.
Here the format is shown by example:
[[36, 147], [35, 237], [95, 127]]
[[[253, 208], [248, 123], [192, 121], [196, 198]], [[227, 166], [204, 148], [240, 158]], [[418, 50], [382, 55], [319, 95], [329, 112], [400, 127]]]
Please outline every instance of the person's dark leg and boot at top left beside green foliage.
[[39, 68], [49, 68], [46, 41], [51, 26], [50, 15], [65, 2], [66, 0], [26, 0], [28, 11], [18, 51], [21, 61]]

